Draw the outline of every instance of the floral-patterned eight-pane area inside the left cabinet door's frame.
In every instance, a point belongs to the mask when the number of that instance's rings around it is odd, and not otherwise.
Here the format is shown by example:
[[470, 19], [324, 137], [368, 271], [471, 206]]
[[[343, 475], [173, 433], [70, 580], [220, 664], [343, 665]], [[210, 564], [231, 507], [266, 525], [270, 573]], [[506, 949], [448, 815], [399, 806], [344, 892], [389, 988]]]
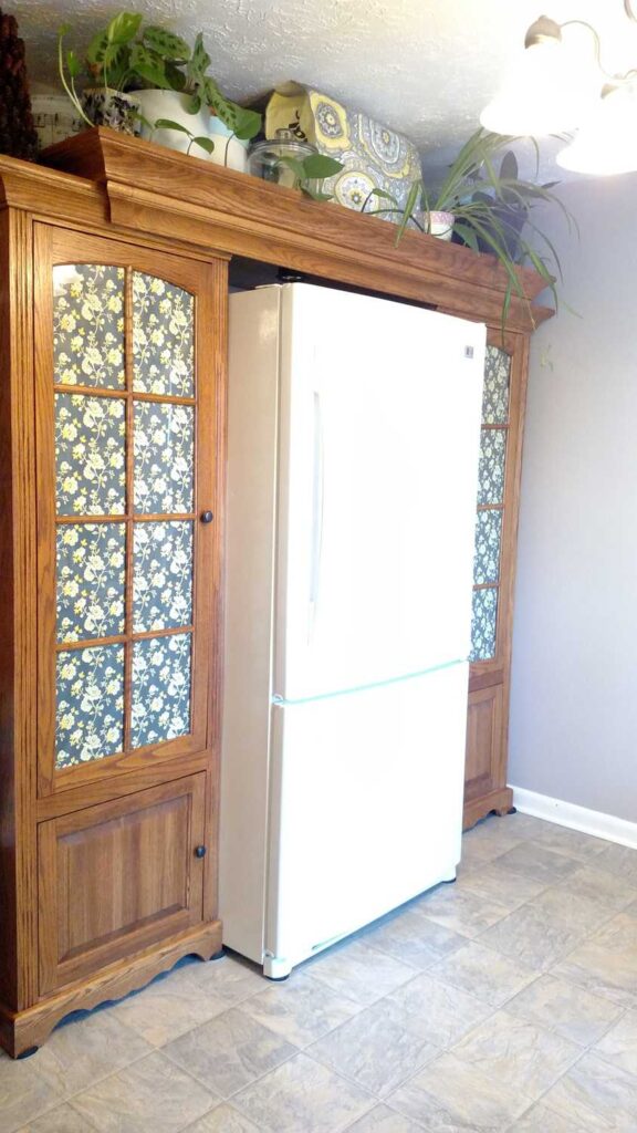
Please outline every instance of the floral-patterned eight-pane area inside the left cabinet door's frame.
[[59, 769], [190, 732], [194, 327], [165, 280], [54, 269]]

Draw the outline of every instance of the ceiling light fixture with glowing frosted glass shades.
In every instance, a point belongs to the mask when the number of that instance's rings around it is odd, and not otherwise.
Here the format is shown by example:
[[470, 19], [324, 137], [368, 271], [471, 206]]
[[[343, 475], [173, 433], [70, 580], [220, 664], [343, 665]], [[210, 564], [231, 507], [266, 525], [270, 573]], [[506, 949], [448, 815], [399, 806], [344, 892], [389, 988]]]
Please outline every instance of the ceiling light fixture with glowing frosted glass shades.
[[[637, 23], [632, 0], [623, 0], [623, 10]], [[570, 27], [591, 33], [593, 53], [578, 50], [568, 33], [562, 36]], [[562, 134], [579, 127], [575, 140], [558, 154], [564, 169], [597, 174], [637, 170], [637, 69], [610, 75], [601, 54], [600, 36], [586, 20], [558, 24], [541, 16], [526, 33], [524, 56], [483, 110], [482, 125], [507, 135]]]

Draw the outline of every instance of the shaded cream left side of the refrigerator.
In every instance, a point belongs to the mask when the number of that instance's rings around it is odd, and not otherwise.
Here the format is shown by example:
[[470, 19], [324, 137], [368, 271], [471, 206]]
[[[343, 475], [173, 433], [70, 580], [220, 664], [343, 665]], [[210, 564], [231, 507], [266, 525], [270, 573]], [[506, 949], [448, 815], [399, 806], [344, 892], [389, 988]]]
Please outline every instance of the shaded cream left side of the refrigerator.
[[230, 297], [226, 665], [220, 806], [223, 940], [262, 959], [277, 399], [278, 289]]

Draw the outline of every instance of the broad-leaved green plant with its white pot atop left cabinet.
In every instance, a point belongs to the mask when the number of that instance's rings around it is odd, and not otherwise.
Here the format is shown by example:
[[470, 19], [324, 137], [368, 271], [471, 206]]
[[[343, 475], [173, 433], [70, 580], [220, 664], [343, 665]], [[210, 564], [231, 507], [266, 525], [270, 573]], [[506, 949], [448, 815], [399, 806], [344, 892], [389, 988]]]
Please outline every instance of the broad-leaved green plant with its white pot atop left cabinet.
[[[249, 138], [261, 127], [261, 114], [226, 99], [207, 74], [210, 56], [203, 36], [195, 46], [165, 28], [142, 27], [143, 17], [119, 12], [97, 32], [84, 65], [74, 51], [63, 49], [68, 25], [59, 33], [59, 69], [62, 85], [88, 126], [111, 126], [141, 131], [159, 144], [189, 151], [198, 145], [210, 155], [211, 112], [239, 138]], [[85, 74], [83, 97], [77, 80]]]

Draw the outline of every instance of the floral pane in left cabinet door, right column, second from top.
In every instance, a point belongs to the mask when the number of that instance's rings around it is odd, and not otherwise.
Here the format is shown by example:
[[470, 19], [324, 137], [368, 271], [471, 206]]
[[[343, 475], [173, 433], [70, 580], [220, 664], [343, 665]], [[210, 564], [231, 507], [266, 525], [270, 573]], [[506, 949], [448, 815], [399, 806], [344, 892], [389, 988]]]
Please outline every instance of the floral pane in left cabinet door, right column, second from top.
[[134, 506], [137, 513], [193, 511], [192, 406], [135, 402]]

